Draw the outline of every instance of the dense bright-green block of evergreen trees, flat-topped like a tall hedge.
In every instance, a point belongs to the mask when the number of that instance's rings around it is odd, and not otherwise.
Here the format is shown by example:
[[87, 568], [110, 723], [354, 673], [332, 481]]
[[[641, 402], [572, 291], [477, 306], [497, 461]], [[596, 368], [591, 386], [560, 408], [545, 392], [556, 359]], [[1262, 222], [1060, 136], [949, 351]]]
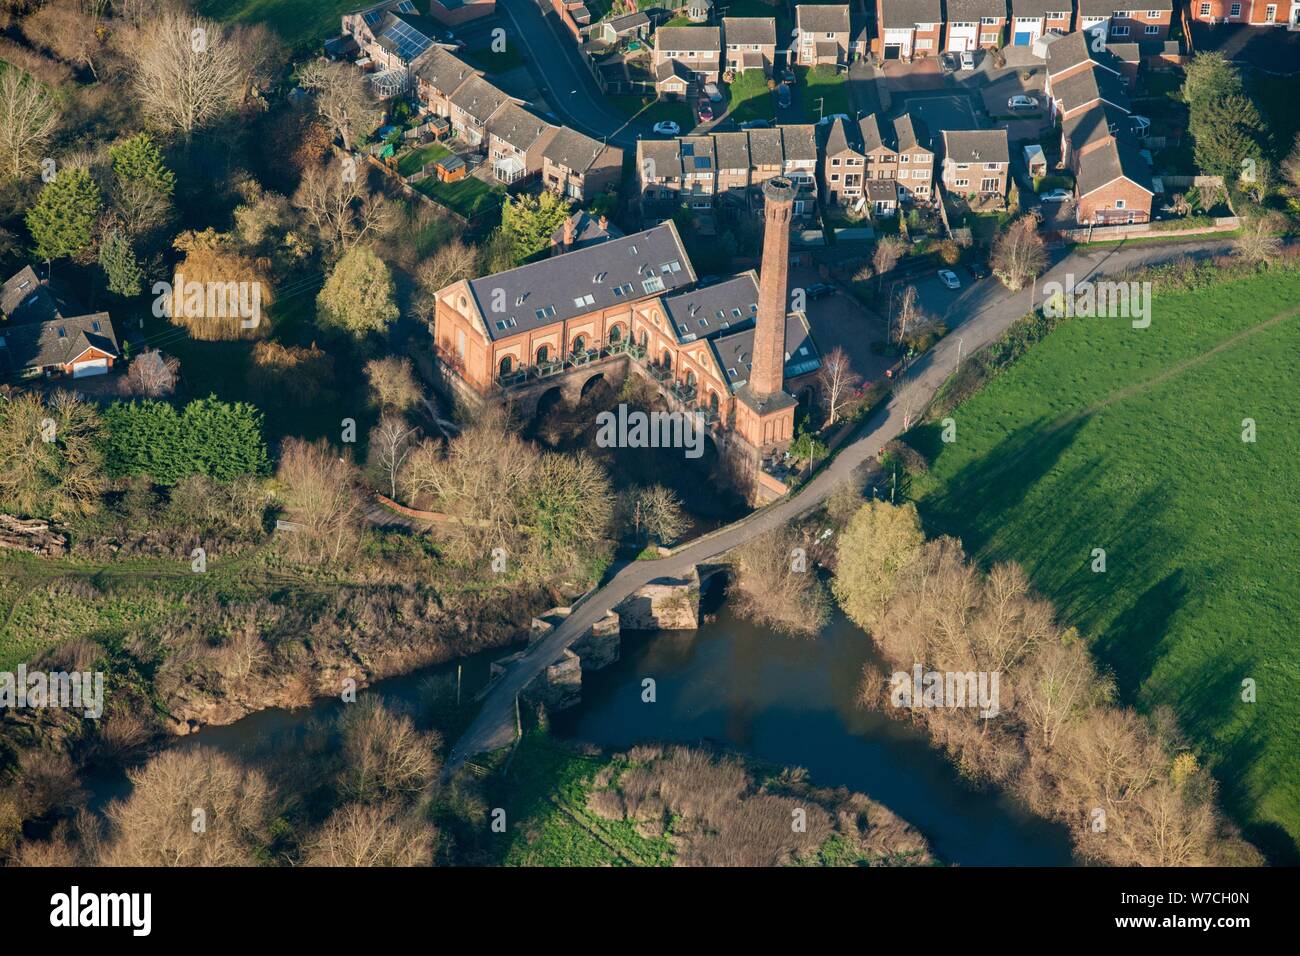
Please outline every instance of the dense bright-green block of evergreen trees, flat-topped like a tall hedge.
[[183, 411], [152, 399], [114, 402], [104, 421], [112, 477], [148, 475], [160, 485], [174, 485], [190, 475], [230, 481], [270, 470], [261, 412], [243, 402], [209, 395]]

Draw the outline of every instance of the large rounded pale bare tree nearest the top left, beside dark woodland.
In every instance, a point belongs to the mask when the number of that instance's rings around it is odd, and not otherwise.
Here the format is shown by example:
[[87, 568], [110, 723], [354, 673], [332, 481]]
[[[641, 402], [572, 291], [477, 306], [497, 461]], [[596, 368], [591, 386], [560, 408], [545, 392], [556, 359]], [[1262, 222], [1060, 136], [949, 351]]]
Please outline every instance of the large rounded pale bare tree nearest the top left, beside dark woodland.
[[187, 143], [243, 101], [257, 62], [234, 29], [181, 7], [143, 25], [126, 48], [144, 113]]

